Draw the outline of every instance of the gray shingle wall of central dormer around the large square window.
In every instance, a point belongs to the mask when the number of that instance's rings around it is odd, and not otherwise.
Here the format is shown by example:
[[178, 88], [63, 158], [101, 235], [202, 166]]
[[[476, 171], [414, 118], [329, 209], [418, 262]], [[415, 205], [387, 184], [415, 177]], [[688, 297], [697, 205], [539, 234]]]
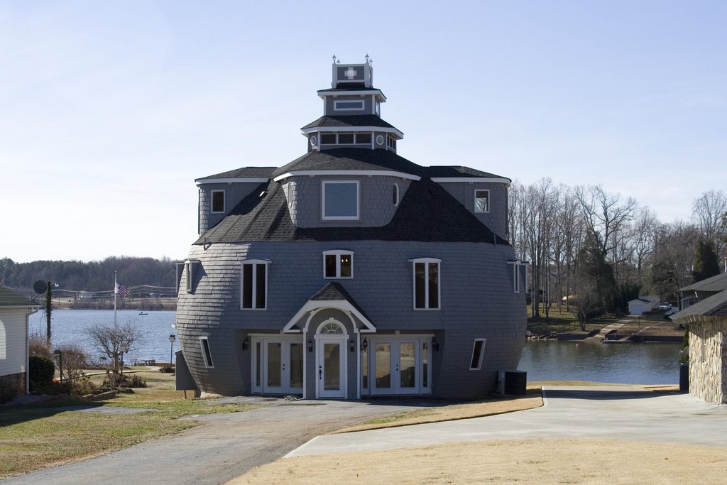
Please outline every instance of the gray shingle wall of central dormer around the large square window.
[[[322, 220], [321, 188], [324, 180], [358, 180], [360, 220]], [[409, 183], [410, 180], [398, 177], [302, 176], [286, 179], [283, 191], [290, 217], [300, 228], [379, 227], [388, 224], [396, 212], [392, 196], [394, 184], [398, 185], [401, 200]]]

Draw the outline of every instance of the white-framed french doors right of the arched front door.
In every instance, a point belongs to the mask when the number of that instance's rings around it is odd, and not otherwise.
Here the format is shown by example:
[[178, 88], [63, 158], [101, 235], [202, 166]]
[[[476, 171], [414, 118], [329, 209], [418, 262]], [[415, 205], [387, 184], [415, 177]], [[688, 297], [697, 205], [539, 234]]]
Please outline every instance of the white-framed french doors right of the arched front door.
[[431, 337], [372, 338], [361, 362], [364, 393], [431, 393], [430, 346]]

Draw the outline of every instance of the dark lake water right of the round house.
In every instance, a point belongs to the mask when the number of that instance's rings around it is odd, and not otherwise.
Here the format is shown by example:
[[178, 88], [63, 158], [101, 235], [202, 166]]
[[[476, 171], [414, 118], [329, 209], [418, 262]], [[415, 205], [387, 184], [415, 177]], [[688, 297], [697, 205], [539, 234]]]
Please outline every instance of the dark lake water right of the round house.
[[678, 384], [678, 343], [601, 344], [557, 340], [525, 343], [518, 369], [528, 380]]

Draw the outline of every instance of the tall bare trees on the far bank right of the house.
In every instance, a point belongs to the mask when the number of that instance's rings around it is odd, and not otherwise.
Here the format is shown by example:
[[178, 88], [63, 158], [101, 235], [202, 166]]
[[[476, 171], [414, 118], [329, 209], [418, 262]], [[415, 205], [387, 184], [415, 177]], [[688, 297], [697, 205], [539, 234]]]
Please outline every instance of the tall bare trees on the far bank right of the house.
[[531, 262], [531, 316], [550, 308], [577, 313], [582, 325], [622, 313], [643, 294], [675, 301], [678, 289], [720, 273], [727, 256], [727, 195], [707, 191], [689, 221], [661, 223], [635, 199], [600, 185], [555, 185], [543, 178], [510, 187], [508, 233]]

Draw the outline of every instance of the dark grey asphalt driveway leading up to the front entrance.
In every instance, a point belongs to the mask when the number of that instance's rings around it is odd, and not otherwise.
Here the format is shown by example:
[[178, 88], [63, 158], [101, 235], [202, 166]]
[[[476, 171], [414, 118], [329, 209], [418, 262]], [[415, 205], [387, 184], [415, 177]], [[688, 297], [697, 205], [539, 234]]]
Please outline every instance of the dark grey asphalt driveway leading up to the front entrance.
[[441, 405], [415, 401], [367, 403], [273, 398], [228, 398], [225, 401], [270, 406], [249, 412], [190, 416], [188, 418], [204, 422], [204, 425], [81, 462], [7, 478], [0, 483], [220, 484], [257, 465], [277, 460], [313, 436], [372, 417]]

